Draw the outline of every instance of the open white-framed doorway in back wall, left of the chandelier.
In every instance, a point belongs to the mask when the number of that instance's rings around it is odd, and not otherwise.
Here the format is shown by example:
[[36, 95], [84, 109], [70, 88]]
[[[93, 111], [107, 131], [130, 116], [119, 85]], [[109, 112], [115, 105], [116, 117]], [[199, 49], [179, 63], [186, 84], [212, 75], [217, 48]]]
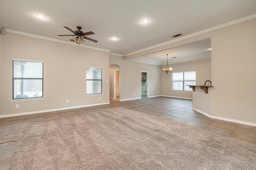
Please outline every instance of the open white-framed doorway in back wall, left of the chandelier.
[[149, 72], [141, 71], [140, 98], [149, 97]]

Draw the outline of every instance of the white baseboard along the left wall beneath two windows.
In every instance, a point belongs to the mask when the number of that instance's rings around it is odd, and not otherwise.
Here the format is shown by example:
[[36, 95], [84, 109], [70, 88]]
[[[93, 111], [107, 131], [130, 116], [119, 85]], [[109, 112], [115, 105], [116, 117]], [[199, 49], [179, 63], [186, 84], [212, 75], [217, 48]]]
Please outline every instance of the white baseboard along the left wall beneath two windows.
[[110, 104], [110, 102], [96, 103], [96, 104], [91, 104], [91, 105], [63, 107], [63, 108], [58, 108], [58, 109], [48, 109], [48, 110], [43, 110], [43, 111], [32, 111], [32, 112], [24, 112], [24, 113], [14, 113], [14, 114], [9, 114], [9, 115], [0, 115], [0, 118], [31, 115], [31, 114], [36, 114], [36, 113], [45, 113], [45, 112], [53, 112], [53, 111], [62, 111], [62, 110], [67, 110], [67, 109], [77, 109], [77, 108], [81, 108], [81, 107], [90, 107], [90, 106], [107, 105], [107, 104]]

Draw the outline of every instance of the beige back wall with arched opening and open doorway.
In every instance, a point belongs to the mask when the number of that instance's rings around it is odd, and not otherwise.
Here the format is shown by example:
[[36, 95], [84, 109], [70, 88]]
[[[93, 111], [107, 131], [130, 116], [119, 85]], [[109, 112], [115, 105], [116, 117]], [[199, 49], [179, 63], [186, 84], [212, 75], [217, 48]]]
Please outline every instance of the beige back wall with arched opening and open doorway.
[[141, 97], [141, 71], [149, 71], [149, 97], [161, 94], [160, 66], [126, 61], [117, 55], [110, 55], [110, 64], [120, 66], [121, 101]]

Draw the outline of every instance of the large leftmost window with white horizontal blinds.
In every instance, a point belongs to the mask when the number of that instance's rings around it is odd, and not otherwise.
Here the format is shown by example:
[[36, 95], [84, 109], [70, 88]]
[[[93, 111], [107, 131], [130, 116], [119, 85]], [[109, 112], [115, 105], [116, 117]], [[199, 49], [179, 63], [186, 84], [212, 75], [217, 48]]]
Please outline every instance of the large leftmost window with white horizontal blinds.
[[43, 61], [12, 59], [12, 99], [43, 97]]

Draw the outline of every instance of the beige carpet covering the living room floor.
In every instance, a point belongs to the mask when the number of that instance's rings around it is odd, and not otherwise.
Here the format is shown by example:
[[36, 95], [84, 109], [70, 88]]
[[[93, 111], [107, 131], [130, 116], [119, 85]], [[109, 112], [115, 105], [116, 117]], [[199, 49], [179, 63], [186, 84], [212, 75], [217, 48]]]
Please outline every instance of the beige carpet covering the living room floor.
[[10, 169], [256, 169], [256, 144], [122, 107], [0, 127]]

